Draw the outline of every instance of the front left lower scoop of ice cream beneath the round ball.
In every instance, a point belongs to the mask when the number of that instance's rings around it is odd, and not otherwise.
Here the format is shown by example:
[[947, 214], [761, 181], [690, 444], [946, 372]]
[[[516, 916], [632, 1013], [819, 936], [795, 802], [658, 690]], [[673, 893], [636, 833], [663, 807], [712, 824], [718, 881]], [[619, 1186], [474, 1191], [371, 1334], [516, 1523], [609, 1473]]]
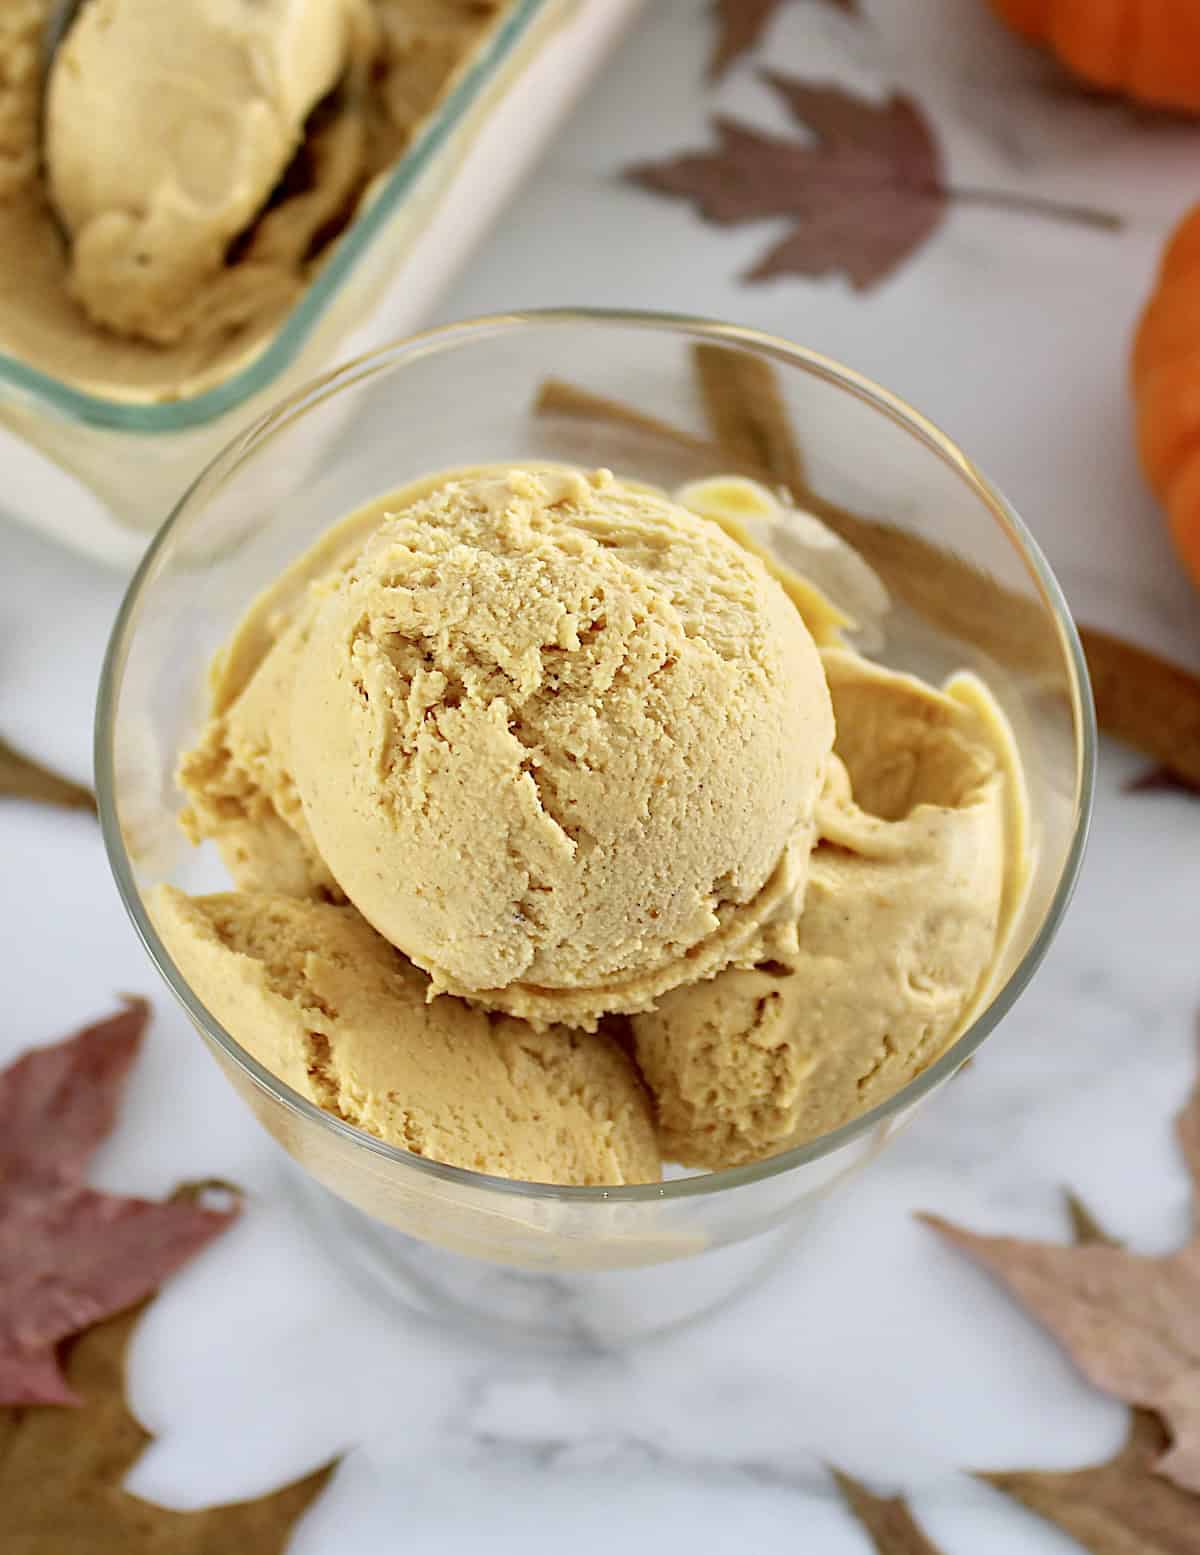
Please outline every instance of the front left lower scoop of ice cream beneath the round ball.
[[650, 1101], [605, 1033], [426, 1001], [426, 980], [351, 907], [160, 886], [159, 933], [266, 1068], [417, 1155], [527, 1182], [659, 1177]]

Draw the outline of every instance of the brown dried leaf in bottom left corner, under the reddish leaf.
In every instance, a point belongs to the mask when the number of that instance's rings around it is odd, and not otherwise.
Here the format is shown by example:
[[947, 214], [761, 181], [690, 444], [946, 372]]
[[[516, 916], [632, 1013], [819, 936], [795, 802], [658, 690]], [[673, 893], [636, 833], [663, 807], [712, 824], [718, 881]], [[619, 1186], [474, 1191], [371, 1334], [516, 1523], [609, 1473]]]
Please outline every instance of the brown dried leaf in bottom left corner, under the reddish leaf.
[[124, 1400], [141, 1308], [78, 1339], [67, 1376], [79, 1409], [0, 1409], [3, 1555], [278, 1555], [333, 1466], [260, 1501], [174, 1511], [121, 1490], [151, 1437]]

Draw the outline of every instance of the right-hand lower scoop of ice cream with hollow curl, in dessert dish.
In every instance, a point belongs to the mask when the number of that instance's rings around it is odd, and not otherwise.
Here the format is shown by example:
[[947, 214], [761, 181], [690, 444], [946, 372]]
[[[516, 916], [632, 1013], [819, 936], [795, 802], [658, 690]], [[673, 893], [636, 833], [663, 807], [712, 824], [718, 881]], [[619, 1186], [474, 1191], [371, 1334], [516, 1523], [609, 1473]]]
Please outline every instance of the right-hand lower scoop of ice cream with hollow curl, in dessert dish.
[[665, 1157], [734, 1166], [838, 1127], [926, 1068], [995, 964], [1023, 837], [1003, 715], [824, 653], [838, 722], [799, 949], [634, 1015]]

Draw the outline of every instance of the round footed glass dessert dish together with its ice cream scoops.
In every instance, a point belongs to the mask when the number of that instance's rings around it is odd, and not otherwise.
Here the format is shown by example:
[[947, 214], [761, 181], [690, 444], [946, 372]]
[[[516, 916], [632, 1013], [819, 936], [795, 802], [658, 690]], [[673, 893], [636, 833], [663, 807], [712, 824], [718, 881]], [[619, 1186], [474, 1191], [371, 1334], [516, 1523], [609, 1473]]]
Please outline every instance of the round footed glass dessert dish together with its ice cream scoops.
[[993, 1029], [1094, 731], [1045, 561], [914, 412], [749, 331], [547, 313], [221, 456], [96, 739], [138, 931], [331, 1250], [608, 1342], [759, 1277]]

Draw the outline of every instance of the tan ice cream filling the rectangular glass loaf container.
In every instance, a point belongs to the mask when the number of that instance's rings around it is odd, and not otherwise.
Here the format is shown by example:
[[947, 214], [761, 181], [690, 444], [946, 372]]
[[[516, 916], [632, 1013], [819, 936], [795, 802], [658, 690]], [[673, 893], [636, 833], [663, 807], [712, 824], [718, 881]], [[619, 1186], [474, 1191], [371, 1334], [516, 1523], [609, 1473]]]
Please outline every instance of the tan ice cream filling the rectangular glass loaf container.
[[50, 3], [0, 6], [0, 351], [152, 403], [269, 344], [510, 0], [85, 0], [44, 101]]

